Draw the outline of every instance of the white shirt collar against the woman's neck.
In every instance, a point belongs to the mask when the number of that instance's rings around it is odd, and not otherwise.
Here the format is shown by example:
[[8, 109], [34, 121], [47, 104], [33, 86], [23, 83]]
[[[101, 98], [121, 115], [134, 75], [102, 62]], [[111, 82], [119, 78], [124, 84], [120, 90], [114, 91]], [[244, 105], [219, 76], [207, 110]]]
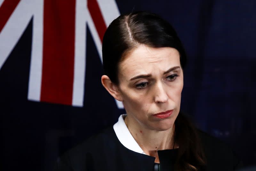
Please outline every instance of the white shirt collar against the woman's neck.
[[118, 121], [113, 126], [116, 136], [121, 144], [123, 144], [129, 150], [134, 152], [138, 152], [141, 154], [145, 154], [143, 150], [140, 148], [139, 144], [135, 141], [129, 129], [127, 128], [124, 118], [126, 114], [122, 114], [119, 116]]

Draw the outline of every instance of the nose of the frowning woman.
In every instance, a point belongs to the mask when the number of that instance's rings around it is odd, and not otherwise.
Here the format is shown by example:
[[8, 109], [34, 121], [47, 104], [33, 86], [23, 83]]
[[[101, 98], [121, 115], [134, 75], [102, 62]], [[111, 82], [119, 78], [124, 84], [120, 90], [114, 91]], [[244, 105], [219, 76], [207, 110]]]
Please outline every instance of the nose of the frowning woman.
[[161, 82], [156, 83], [154, 100], [156, 103], [165, 103], [168, 100], [164, 85]]

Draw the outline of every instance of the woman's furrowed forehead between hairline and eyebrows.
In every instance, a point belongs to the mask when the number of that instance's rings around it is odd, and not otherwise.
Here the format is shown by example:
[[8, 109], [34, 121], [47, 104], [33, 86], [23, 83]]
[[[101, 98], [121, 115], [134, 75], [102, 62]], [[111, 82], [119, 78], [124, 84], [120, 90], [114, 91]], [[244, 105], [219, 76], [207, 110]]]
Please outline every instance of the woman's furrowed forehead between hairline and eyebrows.
[[180, 66], [180, 54], [174, 48], [150, 48], [140, 45], [130, 51], [119, 64], [119, 73], [122, 76], [136, 74], [154, 74], [164, 72], [171, 67]]

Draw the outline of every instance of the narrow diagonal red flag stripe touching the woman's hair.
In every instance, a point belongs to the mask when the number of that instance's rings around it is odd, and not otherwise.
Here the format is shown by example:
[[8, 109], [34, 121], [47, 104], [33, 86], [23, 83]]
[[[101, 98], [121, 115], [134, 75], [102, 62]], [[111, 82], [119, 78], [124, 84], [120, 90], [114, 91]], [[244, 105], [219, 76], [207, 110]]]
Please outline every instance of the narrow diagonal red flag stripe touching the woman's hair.
[[87, 6], [102, 43], [103, 35], [107, 30], [107, 27], [100, 12], [100, 7], [96, 0], [88, 0]]

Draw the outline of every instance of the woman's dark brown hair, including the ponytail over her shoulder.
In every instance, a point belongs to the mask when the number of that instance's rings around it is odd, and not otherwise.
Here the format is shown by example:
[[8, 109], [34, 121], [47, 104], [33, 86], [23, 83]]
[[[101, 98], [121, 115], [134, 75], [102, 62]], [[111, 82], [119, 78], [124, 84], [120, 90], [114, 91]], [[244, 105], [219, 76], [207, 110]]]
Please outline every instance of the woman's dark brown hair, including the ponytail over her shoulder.
[[[172, 47], [180, 53], [182, 69], [186, 53], [173, 27], [156, 14], [133, 12], [111, 22], [103, 37], [102, 57], [105, 74], [118, 85], [118, 64], [139, 45], [152, 48]], [[175, 120], [175, 142], [179, 145], [176, 169], [198, 170], [205, 164], [204, 152], [196, 128], [181, 113]]]

